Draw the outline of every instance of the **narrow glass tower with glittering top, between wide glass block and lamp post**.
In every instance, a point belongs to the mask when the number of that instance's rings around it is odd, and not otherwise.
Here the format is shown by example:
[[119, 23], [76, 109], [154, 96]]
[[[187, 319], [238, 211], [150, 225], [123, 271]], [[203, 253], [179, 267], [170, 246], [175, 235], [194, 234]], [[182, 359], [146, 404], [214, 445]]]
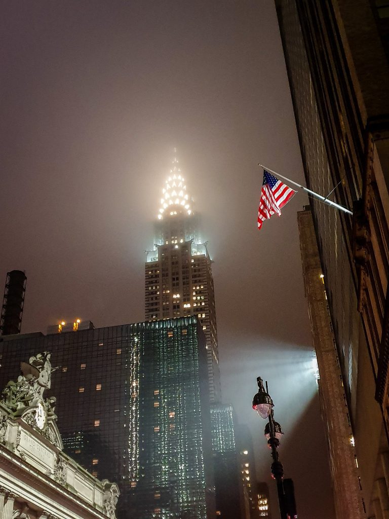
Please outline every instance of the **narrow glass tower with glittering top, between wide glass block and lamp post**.
[[231, 405], [211, 405], [216, 515], [220, 519], [249, 519], [248, 498], [244, 493], [240, 453], [234, 432], [235, 422]]

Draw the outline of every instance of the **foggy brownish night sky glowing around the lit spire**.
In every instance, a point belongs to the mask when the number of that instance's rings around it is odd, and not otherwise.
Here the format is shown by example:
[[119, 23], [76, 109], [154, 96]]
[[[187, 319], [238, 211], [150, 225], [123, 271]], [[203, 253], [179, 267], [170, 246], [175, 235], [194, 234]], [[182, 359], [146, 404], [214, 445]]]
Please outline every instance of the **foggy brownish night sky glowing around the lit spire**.
[[299, 517], [332, 519], [297, 230], [308, 199], [256, 228], [258, 162], [304, 182], [273, 2], [2, 7], [0, 291], [26, 271], [22, 332], [144, 320], [144, 251], [176, 146], [215, 261], [224, 401], [274, 494], [251, 408], [256, 377], [269, 381]]

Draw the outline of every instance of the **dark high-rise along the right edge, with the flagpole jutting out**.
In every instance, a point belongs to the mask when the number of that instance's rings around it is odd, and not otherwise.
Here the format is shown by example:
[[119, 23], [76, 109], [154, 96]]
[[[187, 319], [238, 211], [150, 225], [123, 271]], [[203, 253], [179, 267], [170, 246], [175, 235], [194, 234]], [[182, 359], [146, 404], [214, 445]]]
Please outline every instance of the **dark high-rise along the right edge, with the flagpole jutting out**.
[[306, 182], [324, 196], [335, 188], [330, 197], [353, 210], [350, 216], [312, 201], [318, 276], [323, 275], [364, 506], [367, 516], [385, 516], [389, 10], [378, 0], [275, 4]]

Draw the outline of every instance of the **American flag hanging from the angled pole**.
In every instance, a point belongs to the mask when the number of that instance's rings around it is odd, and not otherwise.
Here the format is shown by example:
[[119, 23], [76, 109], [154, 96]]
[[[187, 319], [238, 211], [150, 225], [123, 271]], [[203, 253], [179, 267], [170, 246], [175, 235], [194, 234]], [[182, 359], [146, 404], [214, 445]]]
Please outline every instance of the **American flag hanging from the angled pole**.
[[261, 199], [258, 208], [258, 229], [262, 227], [262, 222], [277, 213], [281, 216], [281, 208], [296, 193], [281, 180], [263, 170], [263, 184]]

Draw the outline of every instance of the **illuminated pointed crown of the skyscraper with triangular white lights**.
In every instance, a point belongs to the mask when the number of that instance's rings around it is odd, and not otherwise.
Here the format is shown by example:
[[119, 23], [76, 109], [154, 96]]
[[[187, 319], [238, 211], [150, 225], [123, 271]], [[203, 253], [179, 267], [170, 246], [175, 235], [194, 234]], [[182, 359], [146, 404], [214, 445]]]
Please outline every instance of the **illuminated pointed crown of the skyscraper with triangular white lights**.
[[173, 166], [170, 170], [168, 180], [162, 189], [161, 207], [159, 209], [158, 219], [162, 220], [165, 215], [174, 215], [177, 213], [191, 214], [190, 207], [191, 198], [186, 191], [184, 177], [178, 167], [178, 160], [173, 160]]

